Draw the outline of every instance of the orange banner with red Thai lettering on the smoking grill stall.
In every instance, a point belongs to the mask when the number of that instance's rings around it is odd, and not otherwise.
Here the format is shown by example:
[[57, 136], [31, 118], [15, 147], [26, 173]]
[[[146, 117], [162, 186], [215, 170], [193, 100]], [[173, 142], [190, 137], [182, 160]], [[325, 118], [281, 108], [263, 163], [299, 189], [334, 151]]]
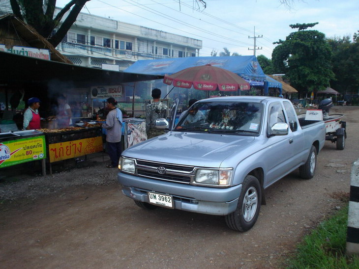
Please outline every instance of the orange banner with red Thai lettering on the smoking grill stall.
[[102, 151], [102, 136], [49, 144], [50, 162], [61, 161]]

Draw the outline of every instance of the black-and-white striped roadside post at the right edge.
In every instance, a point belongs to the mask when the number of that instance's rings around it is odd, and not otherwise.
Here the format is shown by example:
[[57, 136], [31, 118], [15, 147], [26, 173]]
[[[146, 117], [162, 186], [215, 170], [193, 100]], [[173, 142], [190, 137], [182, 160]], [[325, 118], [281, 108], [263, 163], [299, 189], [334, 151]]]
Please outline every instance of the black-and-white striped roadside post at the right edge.
[[353, 163], [351, 173], [347, 254], [359, 255], [359, 160]]

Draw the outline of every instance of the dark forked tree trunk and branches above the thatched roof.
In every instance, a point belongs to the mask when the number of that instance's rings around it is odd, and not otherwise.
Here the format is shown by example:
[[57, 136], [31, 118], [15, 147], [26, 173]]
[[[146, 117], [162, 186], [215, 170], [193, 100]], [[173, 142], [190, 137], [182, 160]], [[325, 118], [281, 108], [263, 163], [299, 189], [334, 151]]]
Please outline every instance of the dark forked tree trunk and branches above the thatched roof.
[[[76, 21], [81, 9], [90, 0], [70, 0], [55, 14], [56, 0], [10, 0], [12, 12], [56, 47]], [[60, 24], [60, 20], [69, 11]]]

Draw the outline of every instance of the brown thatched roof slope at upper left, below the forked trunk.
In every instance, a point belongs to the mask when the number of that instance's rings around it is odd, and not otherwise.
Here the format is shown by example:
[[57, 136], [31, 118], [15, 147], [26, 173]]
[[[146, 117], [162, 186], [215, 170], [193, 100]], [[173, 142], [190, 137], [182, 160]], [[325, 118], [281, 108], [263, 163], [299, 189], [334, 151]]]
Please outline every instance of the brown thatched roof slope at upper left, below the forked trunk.
[[[46, 38], [41, 36], [33, 27], [27, 25], [26, 23], [18, 19], [14, 14], [6, 14], [0, 16], [0, 26], [1, 25], [6, 26], [9, 29], [9, 31], [14, 31], [18, 37], [22, 38], [31, 47], [37, 49], [49, 50], [51, 55], [51, 60], [72, 64], [72, 62], [69, 59], [67, 59], [64, 55], [60, 54], [55, 49], [55, 47], [49, 41], [46, 40]], [[1, 37], [1, 35], [0, 35], [0, 39], [6, 40], [4, 37]], [[5, 45], [9, 44], [6, 43]], [[16, 41], [11, 43], [12, 45], [19, 45], [19, 46], [22, 45], [21, 43], [16, 44]]]

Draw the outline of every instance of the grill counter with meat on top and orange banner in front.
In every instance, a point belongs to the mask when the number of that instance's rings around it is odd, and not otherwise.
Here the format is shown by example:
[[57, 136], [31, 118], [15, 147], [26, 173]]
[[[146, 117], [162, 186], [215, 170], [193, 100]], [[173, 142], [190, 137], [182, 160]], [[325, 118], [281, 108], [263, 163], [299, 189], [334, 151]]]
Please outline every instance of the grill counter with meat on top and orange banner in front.
[[100, 123], [86, 123], [83, 126], [61, 129], [39, 129], [38, 131], [45, 135], [50, 174], [52, 174], [53, 162], [103, 151]]

